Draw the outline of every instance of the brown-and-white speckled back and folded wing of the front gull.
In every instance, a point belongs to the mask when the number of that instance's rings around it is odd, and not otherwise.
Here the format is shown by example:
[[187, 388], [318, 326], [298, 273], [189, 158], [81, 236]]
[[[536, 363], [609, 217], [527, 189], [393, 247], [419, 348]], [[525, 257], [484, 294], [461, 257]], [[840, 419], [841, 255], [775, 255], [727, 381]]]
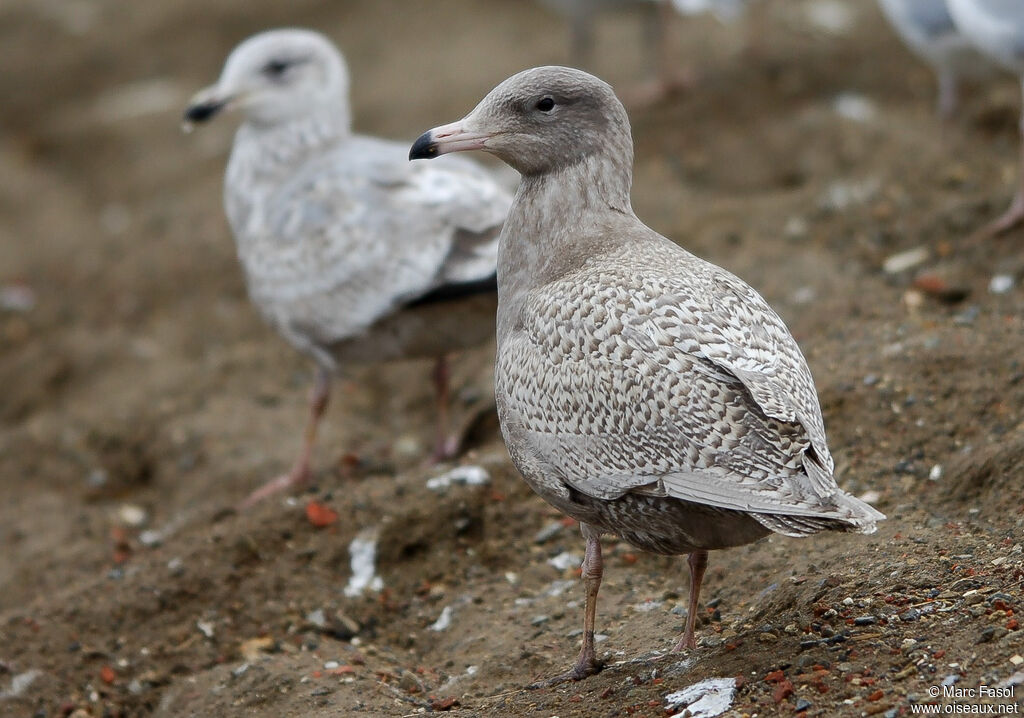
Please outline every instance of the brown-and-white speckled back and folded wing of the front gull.
[[568, 487], [812, 524], [881, 517], [836, 487], [795, 340], [725, 270], [631, 243], [536, 289], [522, 318], [499, 352], [500, 411]]

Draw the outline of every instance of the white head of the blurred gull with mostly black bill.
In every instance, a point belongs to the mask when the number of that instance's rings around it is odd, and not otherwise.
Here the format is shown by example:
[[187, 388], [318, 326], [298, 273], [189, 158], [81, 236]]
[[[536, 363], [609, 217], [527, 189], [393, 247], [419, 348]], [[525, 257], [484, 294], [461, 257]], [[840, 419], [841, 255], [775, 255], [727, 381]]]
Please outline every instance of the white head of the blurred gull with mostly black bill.
[[310, 30], [270, 30], [231, 51], [220, 79], [197, 92], [184, 112], [185, 129], [226, 110], [273, 126], [321, 109], [347, 118], [348, 71], [338, 48]]

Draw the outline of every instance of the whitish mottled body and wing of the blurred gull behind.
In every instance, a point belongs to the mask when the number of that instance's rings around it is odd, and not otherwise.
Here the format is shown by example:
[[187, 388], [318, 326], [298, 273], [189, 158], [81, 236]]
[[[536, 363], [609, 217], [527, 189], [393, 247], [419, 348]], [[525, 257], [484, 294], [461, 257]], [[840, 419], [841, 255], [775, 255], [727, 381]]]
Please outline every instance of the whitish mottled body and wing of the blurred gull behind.
[[263, 314], [330, 363], [326, 347], [403, 303], [492, 276], [511, 197], [479, 167], [451, 160], [410, 164], [404, 145], [349, 137], [283, 168], [258, 203], [232, 203], [246, 188], [229, 182], [228, 214]]

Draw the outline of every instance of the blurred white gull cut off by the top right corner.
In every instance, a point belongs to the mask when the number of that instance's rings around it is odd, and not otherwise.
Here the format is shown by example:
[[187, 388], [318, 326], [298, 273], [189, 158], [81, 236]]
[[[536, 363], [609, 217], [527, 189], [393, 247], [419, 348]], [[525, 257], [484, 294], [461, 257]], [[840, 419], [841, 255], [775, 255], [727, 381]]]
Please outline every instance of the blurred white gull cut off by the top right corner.
[[[1024, 87], [1024, 0], [947, 0], [956, 27], [979, 51], [1021, 78]], [[1021, 116], [1024, 139], [1024, 108]], [[1017, 194], [1010, 208], [981, 230], [997, 235], [1024, 221], [1024, 141]]]

